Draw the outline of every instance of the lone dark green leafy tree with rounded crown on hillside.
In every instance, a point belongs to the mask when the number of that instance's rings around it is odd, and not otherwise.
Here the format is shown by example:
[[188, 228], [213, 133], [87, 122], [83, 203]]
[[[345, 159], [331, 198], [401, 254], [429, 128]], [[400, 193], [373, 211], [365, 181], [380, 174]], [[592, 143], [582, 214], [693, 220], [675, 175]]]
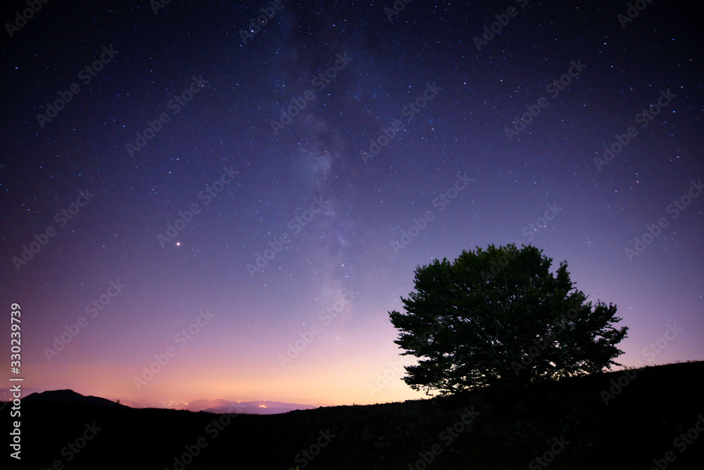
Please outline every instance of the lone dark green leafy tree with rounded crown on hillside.
[[419, 360], [403, 380], [449, 395], [482, 386], [522, 386], [621, 365], [616, 305], [586, 302], [567, 262], [534, 246], [463, 250], [454, 261], [415, 269], [406, 314], [389, 312], [394, 343]]

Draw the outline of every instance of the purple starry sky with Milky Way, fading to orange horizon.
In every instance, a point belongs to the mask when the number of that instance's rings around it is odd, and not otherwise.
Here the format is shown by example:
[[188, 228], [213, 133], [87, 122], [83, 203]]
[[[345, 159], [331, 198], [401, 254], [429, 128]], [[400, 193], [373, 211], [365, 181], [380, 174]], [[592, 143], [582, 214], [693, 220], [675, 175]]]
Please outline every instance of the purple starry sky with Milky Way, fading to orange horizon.
[[615, 303], [623, 364], [704, 360], [700, 12], [395, 5], [6, 2], [25, 390], [422, 398], [388, 312], [415, 267], [490, 243]]

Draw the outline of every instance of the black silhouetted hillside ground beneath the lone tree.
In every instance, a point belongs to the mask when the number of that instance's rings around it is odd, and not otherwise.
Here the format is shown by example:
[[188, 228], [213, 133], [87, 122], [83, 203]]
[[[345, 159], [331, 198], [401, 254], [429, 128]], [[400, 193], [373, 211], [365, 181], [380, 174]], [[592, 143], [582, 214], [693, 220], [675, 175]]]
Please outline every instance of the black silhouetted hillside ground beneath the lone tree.
[[704, 362], [633, 372], [269, 416], [28, 402], [3, 468], [704, 469]]

